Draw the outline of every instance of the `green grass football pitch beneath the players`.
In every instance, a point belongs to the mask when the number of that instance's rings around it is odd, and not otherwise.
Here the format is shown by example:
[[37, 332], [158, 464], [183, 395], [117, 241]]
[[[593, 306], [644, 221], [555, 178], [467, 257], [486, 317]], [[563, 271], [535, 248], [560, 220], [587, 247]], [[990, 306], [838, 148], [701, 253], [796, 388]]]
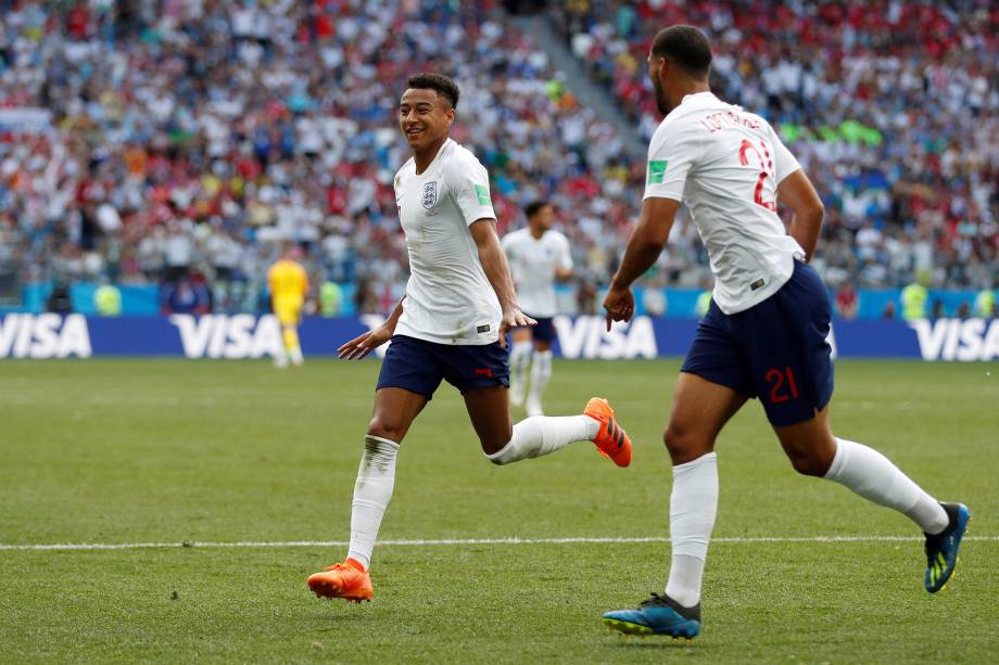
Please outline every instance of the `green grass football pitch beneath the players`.
[[[678, 369], [556, 362], [548, 411], [609, 397], [635, 443], [628, 470], [589, 444], [493, 466], [442, 388], [403, 444], [381, 536], [666, 536], [660, 436]], [[0, 362], [0, 542], [344, 540], [377, 370]], [[833, 401], [840, 436], [966, 502], [970, 536], [999, 535], [988, 370], [839, 361]], [[797, 476], [755, 401], [718, 450], [718, 537], [919, 535]], [[661, 591], [666, 542], [387, 546], [359, 608], [305, 587], [345, 549], [0, 551], [0, 661], [985, 663], [999, 647], [996, 540], [966, 541], [937, 596], [922, 589], [920, 541], [715, 543], [693, 644], [599, 623]]]

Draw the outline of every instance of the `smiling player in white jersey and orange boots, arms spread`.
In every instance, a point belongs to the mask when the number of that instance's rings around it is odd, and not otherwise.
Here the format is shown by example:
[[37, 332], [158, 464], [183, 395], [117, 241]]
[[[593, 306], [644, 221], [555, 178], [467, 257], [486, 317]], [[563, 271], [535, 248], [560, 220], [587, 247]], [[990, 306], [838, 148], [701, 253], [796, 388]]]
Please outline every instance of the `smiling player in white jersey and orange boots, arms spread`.
[[447, 137], [458, 87], [440, 74], [420, 74], [407, 82], [399, 124], [413, 157], [395, 175], [395, 201], [409, 253], [409, 282], [383, 325], [339, 349], [341, 358], [364, 358], [391, 340], [354, 485], [347, 558], [307, 580], [317, 596], [356, 602], [374, 594], [368, 568], [392, 497], [400, 444], [441, 381], [461, 392], [482, 451], [495, 464], [547, 455], [578, 440], [592, 440], [619, 466], [631, 462], [631, 442], [606, 399], [591, 399], [582, 415], [511, 424], [506, 334], [534, 321], [517, 304], [496, 235], [489, 175]]

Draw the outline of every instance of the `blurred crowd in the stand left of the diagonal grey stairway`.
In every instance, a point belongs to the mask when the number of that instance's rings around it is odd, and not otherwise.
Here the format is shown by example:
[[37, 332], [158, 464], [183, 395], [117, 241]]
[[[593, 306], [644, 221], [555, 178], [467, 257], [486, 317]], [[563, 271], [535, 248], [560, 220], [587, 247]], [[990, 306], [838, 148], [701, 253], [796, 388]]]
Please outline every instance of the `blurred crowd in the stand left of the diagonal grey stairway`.
[[395, 113], [423, 69], [461, 86], [453, 137], [490, 167], [502, 227], [553, 197], [596, 280], [636, 206], [642, 165], [492, 2], [7, 4], [0, 107], [52, 114], [0, 133], [0, 244], [27, 280], [193, 279], [253, 308], [291, 241], [315, 283], [357, 281], [377, 308], [405, 279]]

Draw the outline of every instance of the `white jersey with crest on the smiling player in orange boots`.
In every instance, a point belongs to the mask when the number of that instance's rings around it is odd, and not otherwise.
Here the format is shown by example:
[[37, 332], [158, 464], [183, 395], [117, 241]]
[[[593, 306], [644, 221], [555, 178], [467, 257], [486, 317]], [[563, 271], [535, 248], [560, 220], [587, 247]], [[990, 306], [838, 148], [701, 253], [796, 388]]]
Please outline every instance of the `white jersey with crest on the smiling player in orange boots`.
[[468, 230], [476, 220], [496, 218], [485, 168], [447, 139], [422, 174], [412, 157], [399, 169], [395, 203], [409, 251], [395, 333], [438, 344], [496, 342], [500, 300]]

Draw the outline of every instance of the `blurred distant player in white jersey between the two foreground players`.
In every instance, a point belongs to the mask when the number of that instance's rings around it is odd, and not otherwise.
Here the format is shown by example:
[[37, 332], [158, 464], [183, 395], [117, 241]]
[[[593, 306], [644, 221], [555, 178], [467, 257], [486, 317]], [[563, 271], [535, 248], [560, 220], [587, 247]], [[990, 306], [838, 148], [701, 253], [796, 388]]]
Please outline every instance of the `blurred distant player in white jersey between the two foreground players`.
[[542, 415], [541, 398], [552, 378], [553, 318], [558, 311], [555, 280], [572, 277], [572, 255], [569, 253], [569, 239], [552, 229], [555, 209], [551, 203], [533, 201], [523, 213], [528, 218], [527, 228], [507, 233], [501, 244], [510, 263], [517, 299], [524, 314], [538, 323], [514, 329], [510, 401], [517, 406], [523, 404], [530, 367], [531, 389], [527, 394], [526, 411], [528, 415]]

